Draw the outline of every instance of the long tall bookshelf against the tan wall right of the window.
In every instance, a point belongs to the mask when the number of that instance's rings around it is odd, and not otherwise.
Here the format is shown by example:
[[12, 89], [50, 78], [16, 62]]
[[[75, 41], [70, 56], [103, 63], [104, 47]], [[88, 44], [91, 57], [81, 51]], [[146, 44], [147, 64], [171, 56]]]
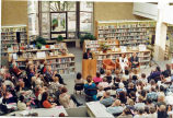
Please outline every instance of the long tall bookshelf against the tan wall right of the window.
[[118, 39], [120, 46], [147, 45], [155, 30], [154, 21], [97, 21], [97, 39]]

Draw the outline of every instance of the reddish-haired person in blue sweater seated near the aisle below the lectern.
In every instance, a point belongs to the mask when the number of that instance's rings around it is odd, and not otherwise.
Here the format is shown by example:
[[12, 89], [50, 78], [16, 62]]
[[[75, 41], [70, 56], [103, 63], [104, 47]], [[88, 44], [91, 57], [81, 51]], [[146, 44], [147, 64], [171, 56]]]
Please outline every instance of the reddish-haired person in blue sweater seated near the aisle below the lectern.
[[88, 75], [86, 81], [88, 81], [88, 83], [84, 84], [84, 93], [88, 96], [92, 96], [93, 101], [97, 101], [97, 98], [96, 98], [97, 90], [96, 90], [95, 83], [92, 82], [92, 76]]

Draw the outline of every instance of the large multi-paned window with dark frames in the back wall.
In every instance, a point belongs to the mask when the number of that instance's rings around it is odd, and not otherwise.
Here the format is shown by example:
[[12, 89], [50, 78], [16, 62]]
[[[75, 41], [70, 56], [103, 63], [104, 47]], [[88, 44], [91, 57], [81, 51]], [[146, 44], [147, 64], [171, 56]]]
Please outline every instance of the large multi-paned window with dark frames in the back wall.
[[93, 3], [73, 1], [39, 1], [39, 34], [49, 39], [66, 39], [93, 33]]

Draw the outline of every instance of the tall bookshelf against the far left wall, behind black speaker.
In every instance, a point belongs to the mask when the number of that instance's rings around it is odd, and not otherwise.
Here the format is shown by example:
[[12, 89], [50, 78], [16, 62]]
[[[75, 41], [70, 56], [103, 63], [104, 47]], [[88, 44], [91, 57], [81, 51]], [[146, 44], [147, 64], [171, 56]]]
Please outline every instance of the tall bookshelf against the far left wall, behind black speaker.
[[20, 32], [21, 43], [20, 46], [27, 45], [27, 30], [26, 25], [13, 25], [1, 27], [1, 44], [2, 55], [5, 56], [8, 48], [18, 48], [16, 32]]

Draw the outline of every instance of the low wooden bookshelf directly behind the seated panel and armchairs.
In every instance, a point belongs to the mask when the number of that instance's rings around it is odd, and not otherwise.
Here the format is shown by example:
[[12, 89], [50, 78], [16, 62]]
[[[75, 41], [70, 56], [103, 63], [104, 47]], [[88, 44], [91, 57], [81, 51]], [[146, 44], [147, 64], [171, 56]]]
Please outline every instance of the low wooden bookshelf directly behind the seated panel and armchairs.
[[139, 50], [127, 50], [126, 52], [122, 51], [107, 51], [106, 54], [103, 52], [95, 52], [94, 54], [94, 59], [97, 60], [96, 62], [96, 68], [97, 71], [102, 68], [102, 61], [103, 59], [112, 59], [114, 62], [116, 59], [118, 59], [122, 54], [126, 54], [126, 56], [129, 58], [131, 57], [132, 52], [137, 52], [139, 57], [139, 62], [140, 62], [140, 68], [145, 68], [146, 66], [148, 67], [151, 60], [151, 51], [150, 50], [145, 50], [145, 51], [139, 51]]

